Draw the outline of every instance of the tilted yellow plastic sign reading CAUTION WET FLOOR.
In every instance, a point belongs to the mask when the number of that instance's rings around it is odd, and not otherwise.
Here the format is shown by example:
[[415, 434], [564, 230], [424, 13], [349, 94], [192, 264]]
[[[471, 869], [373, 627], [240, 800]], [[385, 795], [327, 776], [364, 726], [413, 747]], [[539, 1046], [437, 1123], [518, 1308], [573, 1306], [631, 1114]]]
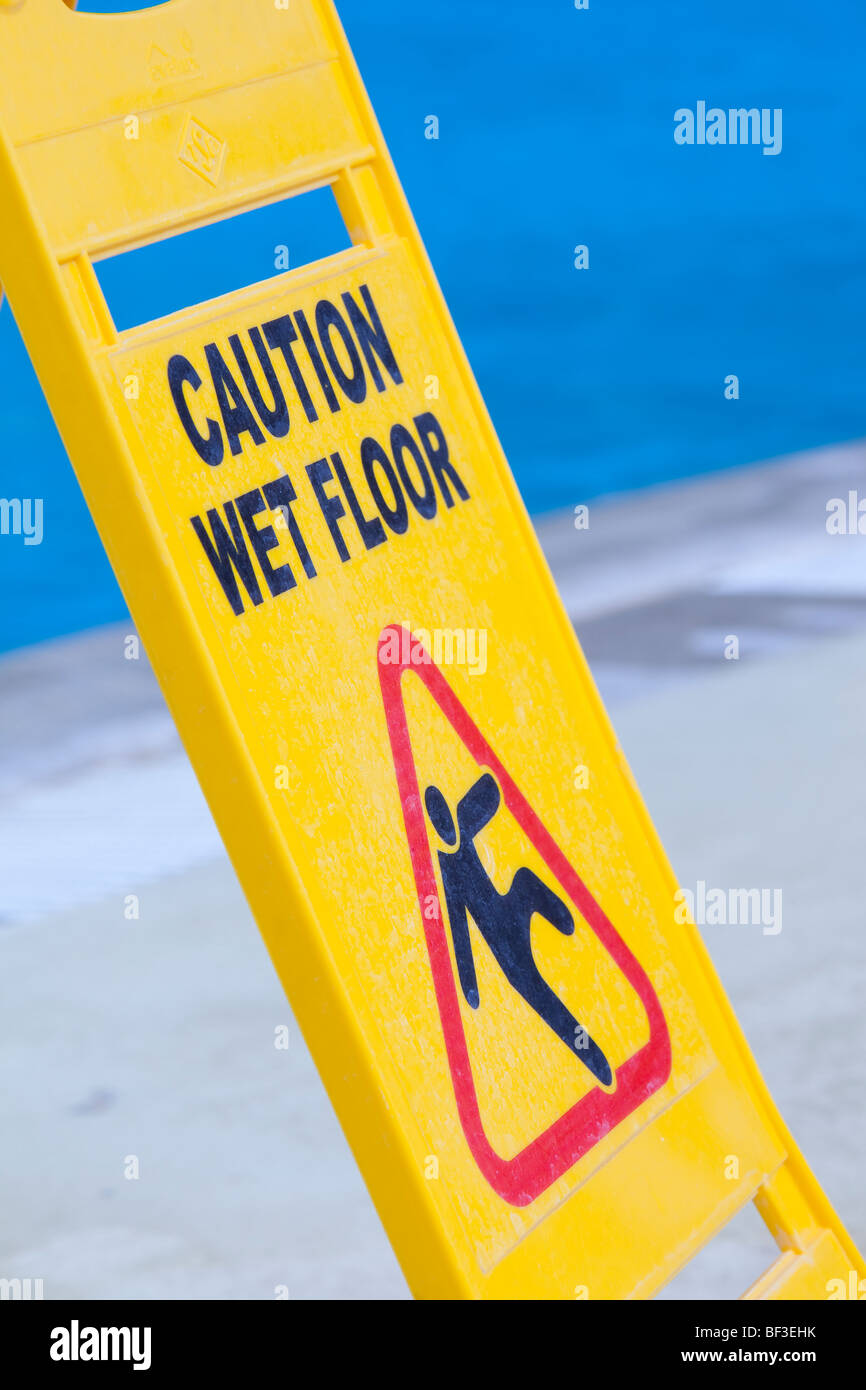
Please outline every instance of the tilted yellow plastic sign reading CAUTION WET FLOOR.
[[[753, 1200], [748, 1297], [826, 1298], [860, 1257], [676, 920], [334, 8], [252, 21], [0, 6], [0, 279], [411, 1289], [645, 1298]], [[321, 185], [349, 250], [115, 329], [93, 260]]]

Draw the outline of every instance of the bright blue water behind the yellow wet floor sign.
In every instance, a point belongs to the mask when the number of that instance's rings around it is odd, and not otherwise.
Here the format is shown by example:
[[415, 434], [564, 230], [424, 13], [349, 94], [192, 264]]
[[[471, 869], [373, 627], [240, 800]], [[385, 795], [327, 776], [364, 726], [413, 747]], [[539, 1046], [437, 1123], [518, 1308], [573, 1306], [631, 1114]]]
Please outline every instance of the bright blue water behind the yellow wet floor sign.
[[[339, 8], [531, 510], [866, 435], [862, 0]], [[781, 107], [781, 154], [677, 146], [698, 100]], [[249, 236], [197, 270], [268, 274], [281, 227]], [[296, 261], [303, 221], [289, 239]], [[158, 254], [181, 299], [188, 265]], [[40, 546], [0, 537], [10, 648], [124, 605], [8, 306], [0, 370], [0, 495], [44, 499]]]

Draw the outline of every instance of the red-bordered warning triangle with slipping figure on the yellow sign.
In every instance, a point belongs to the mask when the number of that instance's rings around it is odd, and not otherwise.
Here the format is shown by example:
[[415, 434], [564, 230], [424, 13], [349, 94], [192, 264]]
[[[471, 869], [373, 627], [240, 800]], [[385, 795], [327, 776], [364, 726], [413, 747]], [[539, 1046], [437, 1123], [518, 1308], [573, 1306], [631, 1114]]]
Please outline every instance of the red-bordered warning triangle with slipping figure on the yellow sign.
[[[473, 723], [424, 644], [407, 627], [391, 624], [379, 635], [377, 656], [457, 1113], [487, 1182], [505, 1201], [525, 1207], [666, 1083], [671, 1061], [667, 1024], [646, 972]], [[407, 719], [405, 677], [409, 671], [435, 703], [436, 717], [445, 721], [442, 727], [450, 727], [461, 745], [463, 783], [459, 790], [449, 788], [448, 795], [434, 784], [430, 759], [424, 787], [418, 781], [418, 756]], [[521, 865], [517, 848], [513, 851], [516, 862], [507, 866], [506, 891], [491, 881], [477, 848], [484, 827], [502, 817], [513, 819], [516, 833], [531, 847], [542, 870], [534, 873]], [[438, 874], [431, 845], [436, 847]], [[538, 967], [532, 920], [546, 922], [549, 934], [563, 938], [574, 933], [575, 922], [580, 923], [581, 930], [589, 933], [596, 956], [603, 956], [612, 970], [619, 972], [631, 997], [639, 1001], [635, 1006], [641, 1012], [641, 1037], [626, 1054], [621, 1047], [619, 1052], [609, 1047], [609, 1030], [603, 1027], [605, 1002], [612, 1015], [620, 1006], [617, 999], [602, 1001], [601, 1015], [596, 1002], [589, 1027], [582, 1019], [578, 1022], [560, 998], [562, 991], [557, 992]], [[478, 1011], [478, 981], [485, 962], [498, 972], [495, 977], [506, 998], [514, 1001], [524, 1016], [542, 1024], [545, 1037], [557, 1037], [556, 1048], [564, 1044], [574, 1054], [570, 1074], [577, 1098], [560, 1098], [555, 1113], [549, 1108], [545, 1113], [545, 1106], [539, 1105], [538, 1115], [528, 1118], [530, 1131], [518, 1145], [503, 1143], [493, 1127], [485, 1127], [478, 1077], [473, 1072], [467, 1020]], [[488, 994], [489, 980], [488, 974]], [[537, 1131], [532, 1131], [534, 1119]]]

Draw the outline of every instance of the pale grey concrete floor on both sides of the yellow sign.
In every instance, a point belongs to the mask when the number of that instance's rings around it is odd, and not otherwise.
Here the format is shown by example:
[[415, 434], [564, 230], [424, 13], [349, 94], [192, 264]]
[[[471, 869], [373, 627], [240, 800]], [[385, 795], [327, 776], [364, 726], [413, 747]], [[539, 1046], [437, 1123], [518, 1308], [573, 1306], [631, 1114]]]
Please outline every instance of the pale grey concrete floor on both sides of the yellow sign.
[[[860, 1245], [866, 537], [824, 517], [865, 463], [824, 450], [594, 505], [588, 531], [539, 523], [680, 881], [783, 892], [778, 935], [705, 940]], [[49, 1298], [405, 1298], [128, 631], [0, 660], [0, 1276]], [[746, 1212], [667, 1297], [735, 1297], [771, 1258]]]

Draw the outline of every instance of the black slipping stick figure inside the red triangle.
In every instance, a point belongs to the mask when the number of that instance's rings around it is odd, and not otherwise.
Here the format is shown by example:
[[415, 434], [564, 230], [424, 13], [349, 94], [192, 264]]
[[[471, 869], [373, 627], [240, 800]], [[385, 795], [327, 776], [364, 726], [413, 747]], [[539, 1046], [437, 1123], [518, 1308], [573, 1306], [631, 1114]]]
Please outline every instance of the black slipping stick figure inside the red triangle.
[[438, 787], [427, 788], [424, 805], [439, 838], [446, 845], [457, 845], [450, 852], [439, 851], [439, 869], [466, 1002], [471, 1009], [477, 1009], [480, 1002], [468, 913], [512, 988], [517, 990], [549, 1029], [553, 1029], [592, 1076], [602, 1086], [609, 1086], [613, 1073], [607, 1058], [542, 977], [532, 956], [532, 915], [537, 912], [564, 937], [570, 937], [574, 933], [571, 913], [531, 869], [518, 869], [509, 891], [498, 892], [478, 858], [475, 835], [499, 808], [499, 787], [495, 778], [485, 773], [474, 787], [470, 787], [457, 803], [457, 828]]

